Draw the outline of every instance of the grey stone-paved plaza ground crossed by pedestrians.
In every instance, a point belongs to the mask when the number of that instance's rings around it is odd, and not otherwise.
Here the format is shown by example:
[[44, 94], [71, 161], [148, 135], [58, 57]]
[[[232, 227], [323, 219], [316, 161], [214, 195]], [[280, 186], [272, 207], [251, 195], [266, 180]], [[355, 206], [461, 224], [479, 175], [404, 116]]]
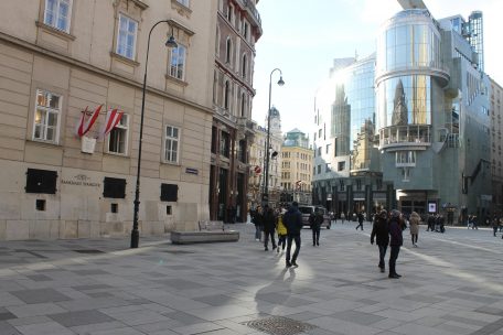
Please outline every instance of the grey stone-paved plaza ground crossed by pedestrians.
[[421, 227], [411, 248], [406, 230], [388, 279], [370, 224], [354, 227], [323, 229], [320, 247], [304, 229], [290, 269], [244, 224], [229, 244], [1, 242], [0, 335], [503, 335], [501, 235]]

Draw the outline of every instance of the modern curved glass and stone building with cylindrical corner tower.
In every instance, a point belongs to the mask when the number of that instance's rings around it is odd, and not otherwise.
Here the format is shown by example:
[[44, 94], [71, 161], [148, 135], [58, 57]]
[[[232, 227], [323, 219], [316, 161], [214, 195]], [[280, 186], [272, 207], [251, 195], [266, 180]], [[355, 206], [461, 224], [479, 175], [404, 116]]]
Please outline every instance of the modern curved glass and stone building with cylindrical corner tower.
[[472, 17], [468, 26], [405, 7], [383, 24], [375, 56], [334, 63], [317, 95], [314, 202], [486, 216], [490, 84], [472, 35], [482, 13]]

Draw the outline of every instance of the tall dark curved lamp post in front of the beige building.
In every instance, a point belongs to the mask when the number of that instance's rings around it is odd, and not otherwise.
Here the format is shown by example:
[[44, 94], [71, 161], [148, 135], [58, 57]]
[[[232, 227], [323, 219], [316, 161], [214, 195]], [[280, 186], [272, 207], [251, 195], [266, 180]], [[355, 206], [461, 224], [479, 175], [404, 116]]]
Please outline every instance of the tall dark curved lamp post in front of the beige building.
[[[141, 142], [143, 140], [143, 116], [145, 116], [145, 95], [147, 90], [147, 66], [149, 64], [149, 50], [150, 50], [150, 35], [152, 34], [153, 29], [159, 24], [165, 22], [170, 24], [169, 20], [161, 20], [156, 22], [152, 25], [149, 32], [149, 39], [147, 41], [147, 56], [145, 60], [145, 75], [143, 75], [143, 90], [142, 90], [142, 99], [141, 99], [141, 115], [140, 115], [140, 139], [138, 141], [138, 168], [137, 168], [137, 183], [136, 183], [136, 191], [135, 191], [135, 212], [132, 218], [132, 230], [131, 230], [131, 248], [138, 248], [138, 244], [140, 240], [140, 231], [138, 230], [138, 210], [140, 209], [140, 171], [141, 171]], [[165, 42], [165, 46], [168, 47], [178, 47], [176, 41], [173, 36], [173, 28], [171, 28], [171, 36]]]

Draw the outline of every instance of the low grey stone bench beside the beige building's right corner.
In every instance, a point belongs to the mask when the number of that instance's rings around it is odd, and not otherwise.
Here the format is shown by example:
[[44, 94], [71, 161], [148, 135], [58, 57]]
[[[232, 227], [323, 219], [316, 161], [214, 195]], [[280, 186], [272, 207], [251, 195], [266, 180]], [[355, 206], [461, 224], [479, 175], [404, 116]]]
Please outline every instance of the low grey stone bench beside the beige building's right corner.
[[225, 230], [223, 221], [200, 221], [200, 231], [171, 231], [173, 245], [235, 242], [239, 240], [239, 231]]

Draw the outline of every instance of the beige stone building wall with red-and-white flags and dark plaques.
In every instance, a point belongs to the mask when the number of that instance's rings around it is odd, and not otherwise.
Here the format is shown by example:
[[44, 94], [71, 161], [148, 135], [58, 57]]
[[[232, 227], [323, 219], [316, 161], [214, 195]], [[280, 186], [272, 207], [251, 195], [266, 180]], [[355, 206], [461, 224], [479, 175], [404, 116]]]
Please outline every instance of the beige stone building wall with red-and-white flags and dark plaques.
[[[0, 1], [0, 240], [130, 234], [149, 32], [140, 234], [210, 217], [216, 12], [216, 0]], [[113, 109], [124, 115], [107, 129]]]

